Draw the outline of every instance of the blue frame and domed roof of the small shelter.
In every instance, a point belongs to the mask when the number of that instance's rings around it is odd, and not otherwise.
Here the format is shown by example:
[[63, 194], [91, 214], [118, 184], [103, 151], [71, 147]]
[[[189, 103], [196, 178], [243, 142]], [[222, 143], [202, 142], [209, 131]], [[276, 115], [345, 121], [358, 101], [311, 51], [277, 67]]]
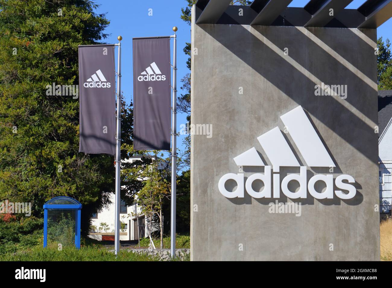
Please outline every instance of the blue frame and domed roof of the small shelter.
[[82, 204], [67, 196], [58, 196], [50, 199], [44, 204], [44, 248], [47, 246], [48, 210], [75, 210], [75, 247], [80, 248], [80, 212]]

